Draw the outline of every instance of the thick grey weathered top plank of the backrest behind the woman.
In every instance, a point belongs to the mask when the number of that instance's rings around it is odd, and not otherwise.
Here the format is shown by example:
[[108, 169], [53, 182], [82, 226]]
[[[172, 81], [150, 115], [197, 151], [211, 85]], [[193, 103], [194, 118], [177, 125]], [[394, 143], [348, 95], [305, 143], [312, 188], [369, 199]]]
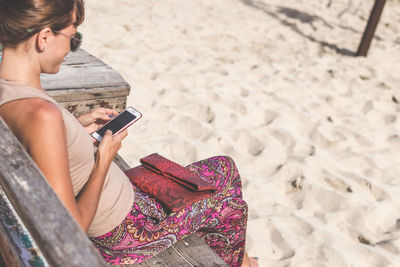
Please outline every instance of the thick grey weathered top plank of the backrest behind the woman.
[[0, 118], [0, 185], [51, 266], [105, 266]]

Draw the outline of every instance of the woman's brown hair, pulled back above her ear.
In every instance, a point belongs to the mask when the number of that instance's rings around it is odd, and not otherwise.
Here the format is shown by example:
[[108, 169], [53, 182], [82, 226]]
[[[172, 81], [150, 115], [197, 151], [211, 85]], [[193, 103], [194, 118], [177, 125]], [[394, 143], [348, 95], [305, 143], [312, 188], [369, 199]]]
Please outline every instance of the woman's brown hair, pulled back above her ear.
[[0, 47], [15, 47], [44, 27], [79, 26], [84, 17], [83, 0], [0, 0]]

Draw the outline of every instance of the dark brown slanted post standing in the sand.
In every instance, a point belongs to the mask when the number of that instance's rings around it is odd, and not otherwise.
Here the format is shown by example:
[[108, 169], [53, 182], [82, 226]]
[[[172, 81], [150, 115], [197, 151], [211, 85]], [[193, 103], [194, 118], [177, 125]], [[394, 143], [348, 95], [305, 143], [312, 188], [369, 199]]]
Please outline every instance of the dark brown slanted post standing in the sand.
[[356, 56], [365, 57], [367, 55], [369, 46], [371, 45], [372, 38], [374, 37], [376, 26], [378, 25], [385, 3], [386, 0], [375, 1], [363, 37], [361, 39], [360, 46], [358, 47]]

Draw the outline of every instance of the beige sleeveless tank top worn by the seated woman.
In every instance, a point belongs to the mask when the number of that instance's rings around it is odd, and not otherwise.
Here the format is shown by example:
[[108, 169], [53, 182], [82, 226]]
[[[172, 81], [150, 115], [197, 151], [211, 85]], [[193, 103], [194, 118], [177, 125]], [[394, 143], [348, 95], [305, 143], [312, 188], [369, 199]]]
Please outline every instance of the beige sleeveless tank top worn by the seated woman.
[[[60, 108], [67, 131], [72, 186], [77, 196], [93, 169], [95, 159], [92, 138], [74, 115], [59, 105], [45, 91], [0, 79], [0, 106], [24, 98], [42, 98]], [[96, 237], [113, 230], [129, 213], [133, 200], [134, 192], [129, 179], [113, 162], [105, 178], [99, 206], [88, 229], [88, 235]]]

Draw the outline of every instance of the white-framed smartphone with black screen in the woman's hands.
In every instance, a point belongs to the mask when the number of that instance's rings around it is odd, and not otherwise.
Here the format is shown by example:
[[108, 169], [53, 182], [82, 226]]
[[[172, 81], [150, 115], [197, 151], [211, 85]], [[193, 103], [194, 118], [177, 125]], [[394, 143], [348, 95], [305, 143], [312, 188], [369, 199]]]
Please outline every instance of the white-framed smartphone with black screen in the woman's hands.
[[111, 130], [113, 135], [125, 130], [134, 122], [139, 120], [142, 114], [133, 107], [127, 107], [124, 111], [118, 114], [115, 118], [107, 122], [100, 129], [92, 133], [92, 137], [101, 142], [107, 130]]

